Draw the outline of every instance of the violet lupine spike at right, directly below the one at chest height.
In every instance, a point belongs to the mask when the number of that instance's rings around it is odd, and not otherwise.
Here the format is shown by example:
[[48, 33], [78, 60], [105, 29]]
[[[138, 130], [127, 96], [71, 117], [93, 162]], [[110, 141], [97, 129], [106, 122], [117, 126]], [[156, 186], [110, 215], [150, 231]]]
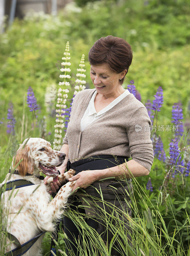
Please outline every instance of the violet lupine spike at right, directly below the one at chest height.
[[[184, 162], [183, 160], [181, 160], [181, 156], [179, 156], [179, 154], [180, 152], [179, 152], [178, 140], [177, 138], [172, 139], [172, 142], [170, 142], [170, 157], [169, 157], [169, 164], [171, 165], [171, 168], [175, 165], [182, 165], [182, 166], [184, 165]], [[177, 158], [178, 158], [178, 161], [177, 161]], [[176, 170], [172, 173], [172, 178], [175, 177], [177, 171], [180, 171], [181, 173], [183, 173], [184, 171], [183, 167], [177, 166], [175, 168]]]

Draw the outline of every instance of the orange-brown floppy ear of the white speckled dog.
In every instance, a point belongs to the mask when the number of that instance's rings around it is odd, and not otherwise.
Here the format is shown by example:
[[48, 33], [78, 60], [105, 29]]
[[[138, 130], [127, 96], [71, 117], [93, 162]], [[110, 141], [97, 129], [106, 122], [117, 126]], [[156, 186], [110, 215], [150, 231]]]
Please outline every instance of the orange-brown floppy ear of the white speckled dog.
[[[20, 164], [19, 161], [23, 159]], [[16, 167], [16, 170], [18, 170], [18, 174], [25, 176], [26, 173], [32, 174], [34, 171], [34, 162], [30, 155], [30, 148], [29, 146], [25, 146], [23, 148], [23, 144], [20, 145], [20, 147], [17, 150], [16, 156], [13, 159], [13, 164]], [[15, 168], [14, 168], [15, 170]]]

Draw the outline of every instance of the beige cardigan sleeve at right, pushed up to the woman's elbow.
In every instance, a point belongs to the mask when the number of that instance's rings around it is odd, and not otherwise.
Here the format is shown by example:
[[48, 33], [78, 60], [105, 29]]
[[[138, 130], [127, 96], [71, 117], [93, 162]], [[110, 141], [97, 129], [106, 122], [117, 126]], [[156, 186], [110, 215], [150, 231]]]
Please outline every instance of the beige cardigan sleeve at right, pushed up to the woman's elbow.
[[130, 155], [135, 162], [149, 171], [154, 159], [150, 126], [150, 117], [145, 107], [137, 109], [127, 125]]

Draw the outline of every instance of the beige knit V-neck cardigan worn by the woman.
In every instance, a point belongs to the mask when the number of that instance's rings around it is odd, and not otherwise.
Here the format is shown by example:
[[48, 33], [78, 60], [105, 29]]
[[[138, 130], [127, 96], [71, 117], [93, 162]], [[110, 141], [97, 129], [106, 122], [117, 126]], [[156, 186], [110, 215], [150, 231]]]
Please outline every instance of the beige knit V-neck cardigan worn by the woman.
[[81, 91], [73, 100], [63, 140], [69, 145], [70, 162], [85, 156], [127, 156], [150, 171], [154, 159], [150, 140], [151, 121], [143, 103], [132, 93], [81, 132], [80, 122], [94, 92], [95, 89]]

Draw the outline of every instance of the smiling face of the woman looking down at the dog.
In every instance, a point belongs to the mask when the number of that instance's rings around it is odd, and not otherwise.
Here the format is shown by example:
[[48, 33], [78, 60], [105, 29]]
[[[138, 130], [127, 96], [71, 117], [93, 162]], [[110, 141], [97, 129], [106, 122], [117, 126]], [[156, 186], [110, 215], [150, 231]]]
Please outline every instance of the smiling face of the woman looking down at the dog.
[[[126, 70], [127, 71], [127, 70]], [[113, 72], [108, 64], [91, 65], [90, 76], [96, 91], [108, 97], [116, 95], [121, 90], [120, 78], [123, 78], [126, 71], [121, 73]]]

